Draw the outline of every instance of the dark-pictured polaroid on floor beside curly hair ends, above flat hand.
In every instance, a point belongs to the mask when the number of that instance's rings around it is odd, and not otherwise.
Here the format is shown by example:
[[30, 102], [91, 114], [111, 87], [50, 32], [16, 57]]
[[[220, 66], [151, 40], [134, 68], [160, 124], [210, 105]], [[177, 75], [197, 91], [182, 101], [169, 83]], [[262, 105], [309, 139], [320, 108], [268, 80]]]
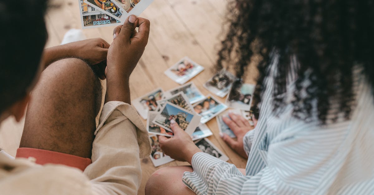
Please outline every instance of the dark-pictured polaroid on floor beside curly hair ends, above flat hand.
[[254, 91], [254, 84], [234, 82], [225, 103], [231, 108], [250, 110]]

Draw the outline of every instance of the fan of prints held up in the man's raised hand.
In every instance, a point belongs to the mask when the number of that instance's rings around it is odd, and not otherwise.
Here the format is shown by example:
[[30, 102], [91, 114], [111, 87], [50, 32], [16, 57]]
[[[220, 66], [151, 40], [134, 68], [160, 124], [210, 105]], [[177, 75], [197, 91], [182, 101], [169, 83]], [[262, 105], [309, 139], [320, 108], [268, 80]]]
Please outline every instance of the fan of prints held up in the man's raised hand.
[[153, 0], [79, 0], [82, 28], [120, 25], [129, 15], [139, 16]]

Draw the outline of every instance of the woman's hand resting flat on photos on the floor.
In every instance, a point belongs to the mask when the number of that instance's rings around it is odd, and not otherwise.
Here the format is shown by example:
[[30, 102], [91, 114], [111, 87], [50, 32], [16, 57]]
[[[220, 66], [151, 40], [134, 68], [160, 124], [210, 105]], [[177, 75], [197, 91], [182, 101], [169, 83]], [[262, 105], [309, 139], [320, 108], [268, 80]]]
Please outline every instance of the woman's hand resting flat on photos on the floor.
[[[229, 113], [229, 116], [231, 119], [229, 117], [223, 117], [223, 121], [233, 131], [237, 140], [232, 139], [225, 133], [220, 133], [220, 136], [227, 143], [227, 145], [229, 145], [235, 152], [237, 152], [237, 154], [239, 154], [243, 158], [248, 158], [248, 155], [244, 151], [243, 137], [254, 127], [252, 127], [249, 122], [241, 115]], [[254, 122], [256, 122], [257, 124], [257, 121]]]

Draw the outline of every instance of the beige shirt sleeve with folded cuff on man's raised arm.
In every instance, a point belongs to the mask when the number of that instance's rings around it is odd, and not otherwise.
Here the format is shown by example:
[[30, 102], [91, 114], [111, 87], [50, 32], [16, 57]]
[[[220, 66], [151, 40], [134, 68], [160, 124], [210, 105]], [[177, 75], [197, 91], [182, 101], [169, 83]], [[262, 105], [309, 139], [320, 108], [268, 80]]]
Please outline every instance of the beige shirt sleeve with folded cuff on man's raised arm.
[[135, 109], [124, 102], [105, 103], [92, 145], [92, 164], [84, 173], [96, 194], [137, 194], [140, 158], [150, 155], [148, 132]]

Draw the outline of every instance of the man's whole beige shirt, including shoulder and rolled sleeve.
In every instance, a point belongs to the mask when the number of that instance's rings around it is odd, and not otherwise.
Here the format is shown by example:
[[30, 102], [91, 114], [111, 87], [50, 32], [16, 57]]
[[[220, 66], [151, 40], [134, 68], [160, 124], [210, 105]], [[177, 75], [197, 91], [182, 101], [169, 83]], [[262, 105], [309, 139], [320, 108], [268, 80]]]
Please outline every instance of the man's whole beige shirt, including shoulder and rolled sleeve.
[[37, 165], [0, 154], [1, 195], [137, 194], [140, 158], [151, 144], [135, 109], [123, 102], [105, 103], [92, 145], [92, 164], [82, 173], [64, 165]]

